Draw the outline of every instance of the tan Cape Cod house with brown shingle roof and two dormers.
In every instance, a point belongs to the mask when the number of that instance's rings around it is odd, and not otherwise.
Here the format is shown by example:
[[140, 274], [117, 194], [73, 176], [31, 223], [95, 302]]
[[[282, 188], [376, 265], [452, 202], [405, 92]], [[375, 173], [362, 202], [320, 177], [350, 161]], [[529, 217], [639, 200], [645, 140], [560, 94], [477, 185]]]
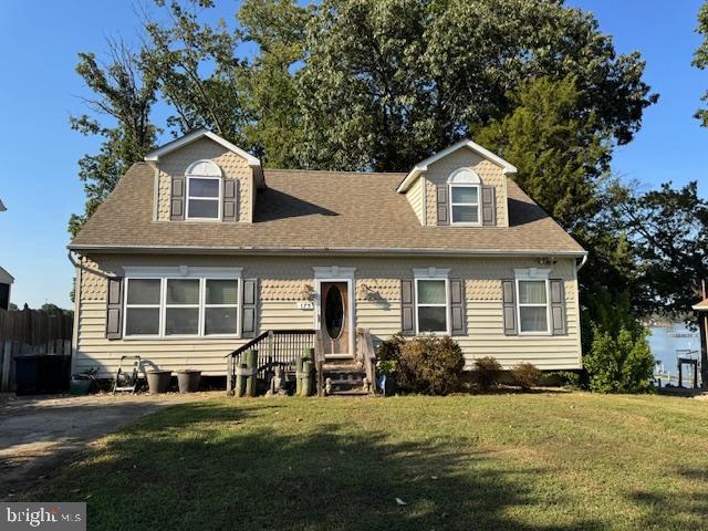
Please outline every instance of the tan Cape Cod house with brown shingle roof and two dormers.
[[[223, 375], [269, 330], [316, 329], [329, 358], [450, 334], [470, 368], [581, 368], [586, 252], [470, 140], [409, 173], [264, 169], [207, 132], [133, 165], [69, 246], [75, 369], [123, 354]], [[106, 278], [108, 277], [108, 278]]]

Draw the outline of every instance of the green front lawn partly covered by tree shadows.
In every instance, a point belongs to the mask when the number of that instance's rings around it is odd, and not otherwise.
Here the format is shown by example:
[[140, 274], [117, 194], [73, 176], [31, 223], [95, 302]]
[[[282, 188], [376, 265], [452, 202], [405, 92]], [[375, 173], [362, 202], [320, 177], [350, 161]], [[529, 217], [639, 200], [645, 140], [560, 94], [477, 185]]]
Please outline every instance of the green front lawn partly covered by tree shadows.
[[223, 398], [144, 417], [29, 499], [86, 500], [97, 530], [708, 529], [708, 402]]

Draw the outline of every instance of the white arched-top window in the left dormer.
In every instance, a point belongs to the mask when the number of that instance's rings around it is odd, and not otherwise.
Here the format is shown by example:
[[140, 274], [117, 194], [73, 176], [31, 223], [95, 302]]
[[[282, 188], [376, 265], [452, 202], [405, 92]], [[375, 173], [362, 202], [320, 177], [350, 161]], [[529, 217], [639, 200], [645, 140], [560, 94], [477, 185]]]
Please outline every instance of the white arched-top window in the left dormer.
[[197, 160], [185, 171], [187, 219], [221, 218], [221, 168], [211, 160]]

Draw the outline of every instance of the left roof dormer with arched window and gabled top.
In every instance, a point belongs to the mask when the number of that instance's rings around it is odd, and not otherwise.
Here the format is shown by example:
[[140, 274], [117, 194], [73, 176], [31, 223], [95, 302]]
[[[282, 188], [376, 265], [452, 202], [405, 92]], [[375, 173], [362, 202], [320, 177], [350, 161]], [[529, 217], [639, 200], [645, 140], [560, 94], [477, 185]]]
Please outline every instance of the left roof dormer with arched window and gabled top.
[[260, 160], [207, 129], [149, 153], [155, 167], [156, 221], [253, 221]]

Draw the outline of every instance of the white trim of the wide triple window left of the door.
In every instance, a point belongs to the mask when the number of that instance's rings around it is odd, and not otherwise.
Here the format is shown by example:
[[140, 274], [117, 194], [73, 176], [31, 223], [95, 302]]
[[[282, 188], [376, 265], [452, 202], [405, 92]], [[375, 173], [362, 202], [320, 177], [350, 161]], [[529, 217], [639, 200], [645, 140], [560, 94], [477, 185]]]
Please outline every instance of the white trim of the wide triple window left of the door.
[[[184, 340], [184, 339], [239, 339], [241, 336], [241, 305], [243, 300], [243, 282], [241, 281], [242, 268], [202, 268], [202, 267], [127, 267], [125, 272], [125, 296], [123, 300], [123, 337], [126, 340]], [[128, 304], [127, 293], [131, 279], [135, 280], [155, 280], [160, 281], [159, 304]], [[199, 332], [197, 334], [165, 334], [167, 310], [167, 280], [199, 280], [199, 304], [169, 304], [170, 308], [199, 308]], [[207, 280], [235, 280], [238, 281], [238, 301], [236, 304], [236, 333], [233, 334], [206, 334], [206, 308], [233, 308], [231, 304], [216, 305], [206, 304], [206, 285]], [[159, 308], [158, 334], [128, 334], [127, 333], [127, 312], [131, 308]]]

